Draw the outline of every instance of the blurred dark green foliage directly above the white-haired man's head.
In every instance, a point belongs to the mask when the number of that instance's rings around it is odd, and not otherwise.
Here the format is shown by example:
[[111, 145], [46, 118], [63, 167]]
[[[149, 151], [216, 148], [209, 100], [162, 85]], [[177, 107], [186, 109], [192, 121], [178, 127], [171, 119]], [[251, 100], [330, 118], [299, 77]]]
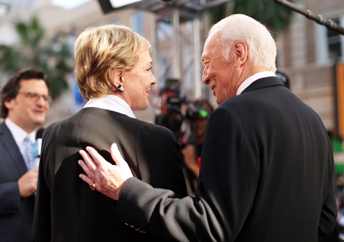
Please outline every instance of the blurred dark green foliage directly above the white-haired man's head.
[[227, 4], [224, 3], [211, 9], [211, 25], [230, 14], [236, 13], [242, 13], [254, 18], [265, 24], [272, 32], [285, 30], [291, 21], [292, 11], [272, 0], [235, 0], [233, 12], [231, 13], [226, 13]]

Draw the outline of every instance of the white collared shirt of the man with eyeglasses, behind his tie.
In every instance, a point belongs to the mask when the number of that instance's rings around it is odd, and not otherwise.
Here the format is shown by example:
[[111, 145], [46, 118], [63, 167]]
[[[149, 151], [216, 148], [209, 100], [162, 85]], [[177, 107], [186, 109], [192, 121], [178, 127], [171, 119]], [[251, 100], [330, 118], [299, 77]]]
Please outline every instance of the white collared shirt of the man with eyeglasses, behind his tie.
[[28, 134], [20, 126], [15, 124], [10, 118], [5, 119], [5, 124], [8, 127], [8, 129], [11, 131], [12, 136], [14, 138], [14, 141], [15, 141], [15, 143], [17, 143], [19, 151], [24, 158], [25, 164], [28, 164], [28, 158], [27, 158], [26, 153], [25, 153], [24, 139], [26, 136], [30, 135], [31, 142], [34, 143], [36, 141], [37, 130], [34, 130], [30, 134]]

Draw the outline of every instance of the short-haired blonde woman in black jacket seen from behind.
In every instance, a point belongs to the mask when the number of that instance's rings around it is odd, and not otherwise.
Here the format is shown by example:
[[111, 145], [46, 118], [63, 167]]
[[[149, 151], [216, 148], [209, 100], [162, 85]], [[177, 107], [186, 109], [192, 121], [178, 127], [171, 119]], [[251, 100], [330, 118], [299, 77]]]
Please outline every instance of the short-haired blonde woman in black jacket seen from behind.
[[[34, 216], [36, 241], [161, 241], [118, 220], [117, 202], [77, 176], [80, 149], [92, 145], [110, 159], [117, 143], [133, 176], [186, 195], [179, 145], [170, 130], [135, 118], [148, 107], [151, 44], [123, 25], [92, 27], [75, 42], [75, 77], [88, 100], [43, 134]], [[106, 171], [104, 171], [106, 172]]]

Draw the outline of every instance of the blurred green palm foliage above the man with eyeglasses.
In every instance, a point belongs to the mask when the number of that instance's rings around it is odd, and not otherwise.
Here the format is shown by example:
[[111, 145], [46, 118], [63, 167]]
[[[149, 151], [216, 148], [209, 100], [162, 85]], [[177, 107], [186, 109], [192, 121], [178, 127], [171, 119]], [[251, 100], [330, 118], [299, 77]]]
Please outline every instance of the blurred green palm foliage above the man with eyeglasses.
[[12, 75], [20, 69], [37, 66], [48, 76], [53, 100], [68, 89], [67, 75], [74, 69], [73, 55], [66, 42], [67, 34], [45, 39], [45, 30], [37, 17], [14, 23], [19, 43], [0, 45], [0, 69]]

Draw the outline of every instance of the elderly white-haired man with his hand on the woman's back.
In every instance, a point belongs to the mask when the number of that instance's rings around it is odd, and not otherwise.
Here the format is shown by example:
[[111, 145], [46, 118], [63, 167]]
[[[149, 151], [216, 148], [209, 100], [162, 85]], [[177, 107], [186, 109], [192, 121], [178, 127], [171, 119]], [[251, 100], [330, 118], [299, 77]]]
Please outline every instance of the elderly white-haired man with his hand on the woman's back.
[[[118, 200], [120, 221], [176, 241], [318, 241], [337, 211], [334, 162], [319, 117], [275, 76], [276, 44], [242, 14], [213, 26], [201, 61], [219, 106], [209, 117], [195, 197], [132, 177], [87, 147], [80, 177]], [[162, 158], [163, 159], [163, 158]]]

